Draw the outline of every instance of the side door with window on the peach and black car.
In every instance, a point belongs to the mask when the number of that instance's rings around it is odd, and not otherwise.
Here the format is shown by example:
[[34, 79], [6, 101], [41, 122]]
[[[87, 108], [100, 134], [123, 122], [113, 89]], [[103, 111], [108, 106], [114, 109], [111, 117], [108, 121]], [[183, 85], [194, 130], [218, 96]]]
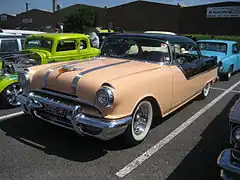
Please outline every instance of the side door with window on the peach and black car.
[[173, 52], [173, 105], [172, 109], [180, 106], [201, 89], [198, 82], [201, 71], [200, 54], [197, 47], [191, 44], [175, 44]]

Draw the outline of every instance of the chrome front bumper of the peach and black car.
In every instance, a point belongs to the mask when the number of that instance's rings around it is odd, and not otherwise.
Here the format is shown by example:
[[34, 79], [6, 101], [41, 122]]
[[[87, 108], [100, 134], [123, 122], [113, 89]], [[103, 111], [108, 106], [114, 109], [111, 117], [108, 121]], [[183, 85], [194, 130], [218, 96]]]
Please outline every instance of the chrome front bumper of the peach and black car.
[[[53, 114], [44, 114], [44, 111], [39, 113], [43, 109], [46, 99], [41, 99], [33, 95], [20, 95], [18, 101], [21, 103], [23, 111], [31, 115], [33, 118], [40, 118], [44, 121], [50, 122], [57, 126], [61, 126], [70, 130], [74, 130], [80, 135], [93, 136], [101, 140], [110, 140], [116, 136], [125, 132], [127, 126], [132, 121], [132, 117], [128, 116], [122, 119], [106, 120], [104, 118], [92, 117], [81, 112], [80, 106], [66, 106], [64, 104], [56, 104], [61, 106], [69, 112], [65, 116], [65, 120], [62, 121], [62, 117], [58, 117]], [[54, 103], [49, 100], [47, 103]], [[47, 113], [47, 112], [46, 112]]]

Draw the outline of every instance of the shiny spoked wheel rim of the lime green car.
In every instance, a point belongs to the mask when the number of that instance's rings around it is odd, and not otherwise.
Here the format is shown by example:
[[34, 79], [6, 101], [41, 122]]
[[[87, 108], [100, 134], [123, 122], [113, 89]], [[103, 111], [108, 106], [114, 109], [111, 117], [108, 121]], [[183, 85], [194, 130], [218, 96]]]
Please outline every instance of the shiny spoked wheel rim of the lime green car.
[[11, 106], [19, 106], [20, 102], [17, 101], [17, 96], [22, 93], [22, 88], [16, 84], [10, 85], [6, 90], [6, 98]]

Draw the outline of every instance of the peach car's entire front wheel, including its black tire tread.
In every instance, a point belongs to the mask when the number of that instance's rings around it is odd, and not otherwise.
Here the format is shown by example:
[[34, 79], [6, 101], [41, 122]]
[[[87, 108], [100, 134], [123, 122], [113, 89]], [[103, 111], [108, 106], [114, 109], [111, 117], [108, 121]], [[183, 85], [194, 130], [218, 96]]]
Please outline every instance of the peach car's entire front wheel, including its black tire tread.
[[124, 139], [128, 144], [136, 145], [142, 142], [147, 136], [153, 120], [152, 104], [141, 101], [133, 112], [132, 123], [124, 133]]

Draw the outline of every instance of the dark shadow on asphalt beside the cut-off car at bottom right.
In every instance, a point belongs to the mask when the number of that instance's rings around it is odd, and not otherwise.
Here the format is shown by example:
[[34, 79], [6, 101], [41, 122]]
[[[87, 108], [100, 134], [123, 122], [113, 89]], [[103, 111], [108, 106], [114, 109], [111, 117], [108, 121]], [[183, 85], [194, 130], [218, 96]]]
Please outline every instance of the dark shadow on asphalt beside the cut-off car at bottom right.
[[219, 180], [216, 164], [220, 152], [229, 147], [228, 114], [240, 95], [235, 95], [201, 135], [201, 140], [167, 180]]

